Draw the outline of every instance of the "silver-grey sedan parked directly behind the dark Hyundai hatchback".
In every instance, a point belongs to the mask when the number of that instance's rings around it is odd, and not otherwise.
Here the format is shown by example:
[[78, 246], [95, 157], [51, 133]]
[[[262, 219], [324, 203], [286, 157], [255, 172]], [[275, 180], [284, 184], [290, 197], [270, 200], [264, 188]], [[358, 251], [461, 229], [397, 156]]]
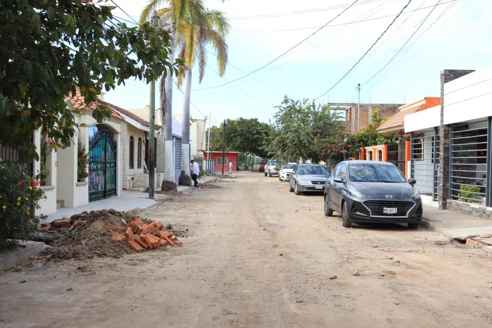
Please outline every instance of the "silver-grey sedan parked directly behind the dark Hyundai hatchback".
[[303, 192], [325, 191], [330, 173], [321, 164], [300, 164], [289, 176], [289, 191], [300, 195]]

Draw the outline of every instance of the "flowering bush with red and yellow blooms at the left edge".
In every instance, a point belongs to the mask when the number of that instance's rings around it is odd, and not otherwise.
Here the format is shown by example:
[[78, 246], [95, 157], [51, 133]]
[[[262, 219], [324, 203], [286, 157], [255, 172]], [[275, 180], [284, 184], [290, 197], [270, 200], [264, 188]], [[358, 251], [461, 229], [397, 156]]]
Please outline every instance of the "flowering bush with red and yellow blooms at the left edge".
[[[36, 179], [38, 179], [36, 177]], [[15, 239], [28, 239], [37, 230], [41, 198], [40, 181], [27, 176], [22, 167], [0, 158], [0, 249], [15, 245]]]

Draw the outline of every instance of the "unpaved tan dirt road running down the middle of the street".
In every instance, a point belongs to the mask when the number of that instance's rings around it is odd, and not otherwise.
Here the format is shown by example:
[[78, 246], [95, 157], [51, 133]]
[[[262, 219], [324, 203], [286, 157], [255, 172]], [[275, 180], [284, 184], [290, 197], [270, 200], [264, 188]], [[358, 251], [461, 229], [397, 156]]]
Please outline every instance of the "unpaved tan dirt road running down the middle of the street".
[[491, 327], [490, 255], [405, 226], [342, 228], [321, 196], [262, 174], [217, 184], [142, 213], [189, 229], [182, 247], [1, 274], [1, 326]]

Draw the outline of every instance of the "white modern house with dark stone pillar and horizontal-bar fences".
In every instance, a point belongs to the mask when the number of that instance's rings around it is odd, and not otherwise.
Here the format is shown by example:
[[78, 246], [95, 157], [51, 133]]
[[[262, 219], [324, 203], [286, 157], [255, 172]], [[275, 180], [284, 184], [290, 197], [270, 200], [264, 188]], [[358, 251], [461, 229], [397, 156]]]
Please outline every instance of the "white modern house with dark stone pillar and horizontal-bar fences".
[[[492, 66], [441, 71], [440, 106], [405, 117], [411, 134], [412, 177], [423, 201], [439, 209], [491, 218]], [[425, 147], [418, 136], [425, 136]], [[417, 174], [419, 165], [426, 171]], [[430, 183], [429, 183], [430, 182]]]

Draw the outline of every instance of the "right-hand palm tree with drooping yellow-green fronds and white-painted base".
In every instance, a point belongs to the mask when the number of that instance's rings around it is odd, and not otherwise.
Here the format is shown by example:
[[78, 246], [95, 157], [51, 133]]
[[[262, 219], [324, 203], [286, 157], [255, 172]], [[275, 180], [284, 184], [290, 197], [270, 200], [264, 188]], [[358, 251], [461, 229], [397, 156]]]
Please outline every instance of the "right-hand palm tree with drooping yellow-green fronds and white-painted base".
[[[181, 157], [181, 175], [179, 184], [191, 185], [189, 168], [189, 106], [191, 97], [191, 72], [198, 59], [199, 83], [203, 80], [205, 66], [207, 65], [207, 45], [212, 45], [217, 53], [217, 66], [219, 76], [223, 76], [227, 64], [227, 44], [225, 37], [229, 33], [230, 25], [224, 13], [219, 10], [205, 9], [201, 0], [192, 0], [195, 10], [187, 8], [182, 20], [177, 20], [176, 25], [176, 46], [179, 58], [184, 60], [187, 65], [186, 71], [181, 71], [178, 75], [178, 87], [181, 87], [183, 79], [186, 81], [183, 102], [183, 137]], [[172, 7], [159, 10], [160, 27], [169, 28], [173, 21]]]

